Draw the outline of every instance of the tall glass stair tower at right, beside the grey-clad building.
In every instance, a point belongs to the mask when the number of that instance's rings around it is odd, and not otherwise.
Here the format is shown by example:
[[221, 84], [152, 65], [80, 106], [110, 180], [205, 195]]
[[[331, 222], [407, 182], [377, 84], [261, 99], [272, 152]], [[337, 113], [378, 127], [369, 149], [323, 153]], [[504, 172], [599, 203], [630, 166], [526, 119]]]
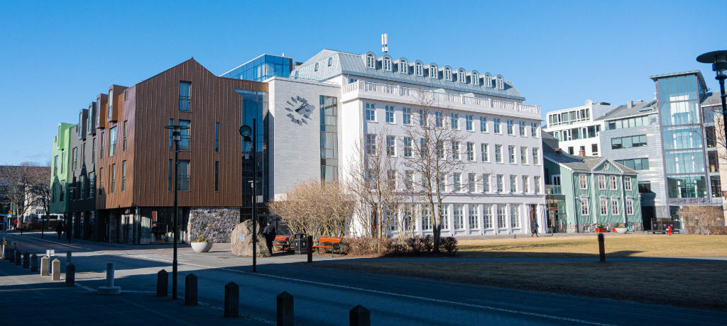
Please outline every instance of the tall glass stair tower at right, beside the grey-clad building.
[[700, 100], [707, 87], [698, 70], [650, 78], [656, 82], [659, 102], [667, 203], [676, 217], [679, 206], [712, 202], [710, 180], [719, 184], [719, 172], [712, 175], [707, 167], [707, 144], [701, 136], [707, 126]]

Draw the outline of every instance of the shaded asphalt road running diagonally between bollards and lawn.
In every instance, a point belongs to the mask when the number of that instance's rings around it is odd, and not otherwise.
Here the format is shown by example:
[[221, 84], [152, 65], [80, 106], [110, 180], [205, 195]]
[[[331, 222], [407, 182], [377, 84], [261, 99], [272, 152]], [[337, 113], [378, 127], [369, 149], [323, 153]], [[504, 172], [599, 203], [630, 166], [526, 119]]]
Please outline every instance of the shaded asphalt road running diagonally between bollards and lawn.
[[[116, 285], [122, 290], [150, 296], [156, 272], [171, 272], [171, 245], [74, 240], [69, 247], [57, 243], [55, 235], [46, 237], [51, 242], [34, 236], [7, 235], [23, 251], [40, 255], [55, 249], [63, 266], [70, 249], [76, 282], [89, 290], [105, 285], [108, 262], [116, 264]], [[210, 309], [221, 309], [224, 285], [236, 282], [241, 314], [270, 323], [276, 320], [276, 296], [283, 291], [294, 296], [297, 325], [348, 325], [348, 311], [358, 304], [371, 311], [372, 325], [725, 325], [727, 320], [727, 314], [715, 311], [318, 269], [300, 264], [304, 256], [258, 258], [253, 274], [251, 258], [232, 256], [227, 246], [216, 246], [220, 248], [209, 253], [194, 253], [180, 245], [182, 299], [184, 277], [190, 273], [198, 277], [199, 301]]]

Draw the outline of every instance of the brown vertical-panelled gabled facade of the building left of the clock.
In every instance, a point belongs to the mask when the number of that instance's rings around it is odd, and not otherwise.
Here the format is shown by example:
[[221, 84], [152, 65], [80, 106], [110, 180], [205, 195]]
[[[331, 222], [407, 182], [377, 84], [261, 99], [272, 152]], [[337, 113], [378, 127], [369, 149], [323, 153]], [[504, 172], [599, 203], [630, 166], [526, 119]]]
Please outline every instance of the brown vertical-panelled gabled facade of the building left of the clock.
[[[190, 111], [179, 110], [179, 83], [192, 83]], [[164, 71], [134, 86], [136, 106], [129, 116], [130, 145], [134, 163], [127, 174], [133, 185], [130, 201], [109, 197], [108, 207], [172, 206], [174, 192], [167, 190], [169, 131], [164, 126], [190, 121], [190, 150], [180, 151], [180, 160], [190, 160], [190, 191], [179, 192], [180, 206], [240, 206], [242, 139], [242, 97], [235, 89], [268, 91], [266, 83], [214, 76], [194, 60]], [[133, 123], [131, 122], [133, 121]], [[214, 151], [214, 126], [220, 123], [220, 151]], [[130, 127], [131, 129], [131, 127]], [[133, 139], [133, 140], [132, 140]], [[214, 162], [219, 161], [219, 191], [214, 191]], [[106, 182], [106, 179], [105, 181]], [[118, 187], [118, 184], [117, 184]], [[127, 190], [128, 191], [128, 190]]]

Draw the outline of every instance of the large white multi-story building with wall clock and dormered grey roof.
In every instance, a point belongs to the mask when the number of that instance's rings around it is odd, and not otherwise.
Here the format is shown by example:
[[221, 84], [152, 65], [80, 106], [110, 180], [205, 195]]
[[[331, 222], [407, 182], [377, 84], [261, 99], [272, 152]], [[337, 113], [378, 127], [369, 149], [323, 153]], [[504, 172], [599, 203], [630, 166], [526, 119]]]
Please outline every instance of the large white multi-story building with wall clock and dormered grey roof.
[[[462, 133], [462, 160], [472, 160], [469, 171], [447, 177], [464, 182], [470, 174], [484, 176], [475, 189], [446, 197], [442, 234], [523, 234], [530, 232], [531, 219], [545, 229], [540, 107], [523, 104], [525, 98], [503, 76], [324, 49], [289, 78], [265, 81], [270, 197], [283, 200], [287, 190], [312, 178], [345, 179], [366, 134], [385, 130], [393, 137], [391, 155], [407, 159], [403, 129], [417, 98], [426, 97], [435, 109], [451, 112], [454, 122], [446, 128]], [[420, 178], [414, 171], [414, 182]], [[431, 234], [430, 220], [417, 216], [415, 232]]]

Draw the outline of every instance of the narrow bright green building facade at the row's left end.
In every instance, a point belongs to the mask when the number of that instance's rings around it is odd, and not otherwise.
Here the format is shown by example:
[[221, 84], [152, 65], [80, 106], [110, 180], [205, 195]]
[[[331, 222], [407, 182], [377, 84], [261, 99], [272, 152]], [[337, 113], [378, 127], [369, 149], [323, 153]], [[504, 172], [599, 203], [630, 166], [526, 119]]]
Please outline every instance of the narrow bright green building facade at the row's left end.
[[71, 129], [73, 123], [58, 123], [58, 134], [53, 137], [51, 157], [50, 212], [70, 211], [68, 184], [71, 180]]

